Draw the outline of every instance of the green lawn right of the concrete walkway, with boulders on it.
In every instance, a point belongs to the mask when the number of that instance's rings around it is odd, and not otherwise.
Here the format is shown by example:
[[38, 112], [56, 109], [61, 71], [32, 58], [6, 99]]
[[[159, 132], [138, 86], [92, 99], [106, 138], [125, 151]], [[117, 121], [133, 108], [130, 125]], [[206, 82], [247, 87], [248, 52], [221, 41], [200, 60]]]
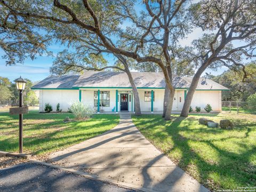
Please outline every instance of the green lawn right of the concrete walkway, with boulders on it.
[[[234, 130], [198, 124], [206, 117], [215, 122], [228, 118]], [[256, 115], [192, 114], [132, 117], [140, 132], [174, 163], [212, 190], [256, 186]]]

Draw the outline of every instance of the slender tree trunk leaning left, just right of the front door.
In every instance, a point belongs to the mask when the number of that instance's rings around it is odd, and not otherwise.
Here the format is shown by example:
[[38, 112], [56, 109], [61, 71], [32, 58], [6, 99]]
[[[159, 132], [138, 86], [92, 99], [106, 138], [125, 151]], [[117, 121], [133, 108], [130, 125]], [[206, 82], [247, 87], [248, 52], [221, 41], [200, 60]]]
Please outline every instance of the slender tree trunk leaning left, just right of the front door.
[[141, 115], [141, 111], [140, 111], [140, 98], [139, 98], [139, 93], [138, 93], [138, 89], [134, 83], [131, 71], [129, 68], [125, 67], [125, 73], [127, 74], [129, 81], [132, 85], [132, 91], [133, 91], [133, 95], [134, 95], [134, 110], [135, 110], [135, 115], [136, 116], [140, 116]]

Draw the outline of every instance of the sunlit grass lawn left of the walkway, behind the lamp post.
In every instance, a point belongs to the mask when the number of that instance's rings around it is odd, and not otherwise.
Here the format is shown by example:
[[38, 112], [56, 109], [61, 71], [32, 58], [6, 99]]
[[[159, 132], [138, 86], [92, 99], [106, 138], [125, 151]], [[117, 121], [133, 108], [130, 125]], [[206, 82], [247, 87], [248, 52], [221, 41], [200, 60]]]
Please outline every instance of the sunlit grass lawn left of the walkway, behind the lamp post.
[[[39, 114], [30, 111], [24, 115], [23, 150], [33, 155], [57, 151], [96, 135], [102, 134], [119, 123], [117, 115], [94, 115], [86, 121], [64, 123], [66, 114]], [[0, 150], [18, 152], [18, 115], [0, 113]]]

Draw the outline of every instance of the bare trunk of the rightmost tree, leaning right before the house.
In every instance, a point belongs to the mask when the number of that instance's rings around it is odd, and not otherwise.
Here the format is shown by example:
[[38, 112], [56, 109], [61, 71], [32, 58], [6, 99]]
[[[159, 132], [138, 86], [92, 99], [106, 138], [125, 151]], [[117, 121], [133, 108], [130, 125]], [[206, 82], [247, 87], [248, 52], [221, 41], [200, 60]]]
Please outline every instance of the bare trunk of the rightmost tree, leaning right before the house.
[[196, 91], [196, 87], [197, 87], [199, 78], [202, 75], [202, 73], [205, 70], [205, 68], [206, 68], [205, 66], [199, 68], [197, 73], [195, 74], [195, 76], [192, 79], [191, 85], [189, 87], [189, 91], [187, 93], [184, 105], [182, 107], [182, 111], [181, 111], [181, 114], [180, 114], [181, 117], [187, 117], [188, 116], [189, 108], [191, 106], [191, 101], [192, 101], [194, 93]]

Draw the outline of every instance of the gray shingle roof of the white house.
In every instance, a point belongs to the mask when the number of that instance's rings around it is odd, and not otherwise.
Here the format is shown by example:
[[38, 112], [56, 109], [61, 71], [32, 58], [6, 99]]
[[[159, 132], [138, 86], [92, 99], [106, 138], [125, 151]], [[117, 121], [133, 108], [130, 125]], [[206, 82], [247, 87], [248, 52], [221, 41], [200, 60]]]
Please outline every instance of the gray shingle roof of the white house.
[[[165, 79], [162, 73], [132, 72], [134, 82], [138, 88], [164, 88]], [[201, 78], [198, 82], [199, 90], [228, 90], [226, 87], [210, 80]], [[188, 89], [191, 77], [175, 77], [173, 85], [176, 88]], [[53, 76], [39, 82], [33, 89], [71, 89], [72, 87], [131, 87], [129, 79], [124, 72], [113, 71], [85, 71], [83, 75]]]

